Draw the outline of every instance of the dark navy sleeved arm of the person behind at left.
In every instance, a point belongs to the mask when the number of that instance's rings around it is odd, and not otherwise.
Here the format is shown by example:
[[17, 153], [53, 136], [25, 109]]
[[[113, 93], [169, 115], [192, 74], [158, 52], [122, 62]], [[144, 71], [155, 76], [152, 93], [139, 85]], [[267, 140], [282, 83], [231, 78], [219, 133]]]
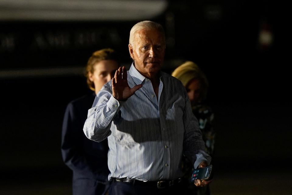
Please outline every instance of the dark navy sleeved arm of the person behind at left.
[[83, 124], [79, 118], [78, 110], [73, 103], [69, 103], [63, 120], [61, 152], [62, 158], [71, 170], [87, 176], [93, 175], [90, 166], [82, 150], [83, 144]]

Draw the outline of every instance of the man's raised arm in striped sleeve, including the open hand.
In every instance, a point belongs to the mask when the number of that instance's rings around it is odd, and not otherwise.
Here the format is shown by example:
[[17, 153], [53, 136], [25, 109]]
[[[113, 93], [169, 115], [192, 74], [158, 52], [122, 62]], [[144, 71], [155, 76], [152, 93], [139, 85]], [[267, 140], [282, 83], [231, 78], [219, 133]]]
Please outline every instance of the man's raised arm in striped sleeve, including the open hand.
[[107, 83], [98, 92], [92, 108], [88, 111], [88, 116], [84, 124], [83, 131], [87, 138], [100, 142], [111, 134], [110, 126], [112, 120], [123, 103], [132, 96], [142, 85], [130, 88], [127, 81], [127, 70], [120, 67], [111, 85]]

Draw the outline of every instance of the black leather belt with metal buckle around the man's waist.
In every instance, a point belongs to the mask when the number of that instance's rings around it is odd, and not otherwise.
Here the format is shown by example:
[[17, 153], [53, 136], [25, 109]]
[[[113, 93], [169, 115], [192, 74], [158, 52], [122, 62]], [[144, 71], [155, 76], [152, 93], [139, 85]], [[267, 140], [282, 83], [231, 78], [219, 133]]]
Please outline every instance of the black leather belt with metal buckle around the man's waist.
[[136, 184], [142, 184], [142, 185], [149, 185], [149, 186], [156, 186], [158, 189], [170, 187], [173, 185], [177, 185], [182, 181], [181, 178], [175, 179], [175, 180], [161, 180], [161, 181], [148, 181], [143, 182], [137, 179], [129, 179], [129, 178], [113, 178], [113, 182], [124, 182], [124, 183], [130, 183], [133, 186]]

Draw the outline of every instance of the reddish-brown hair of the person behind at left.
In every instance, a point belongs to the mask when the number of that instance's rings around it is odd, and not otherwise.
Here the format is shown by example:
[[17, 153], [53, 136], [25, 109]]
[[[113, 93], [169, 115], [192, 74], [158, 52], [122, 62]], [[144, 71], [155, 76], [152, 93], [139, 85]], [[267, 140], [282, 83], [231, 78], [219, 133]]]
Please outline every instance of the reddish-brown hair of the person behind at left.
[[89, 58], [85, 70], [85, 76], [87, 78], [86, 82], [91, 90], [95, 90], [94, 83], [89, 80], [89, 72], [93, 74], [94, 72], [94, 66], [102, 61], [102, 60], [114, 60], [117, 63], [119, 63], [118, 55], [113, 49], [107, 48], [107, 49], [101, 49], [98, 51], [95, 51], [92, 56]]

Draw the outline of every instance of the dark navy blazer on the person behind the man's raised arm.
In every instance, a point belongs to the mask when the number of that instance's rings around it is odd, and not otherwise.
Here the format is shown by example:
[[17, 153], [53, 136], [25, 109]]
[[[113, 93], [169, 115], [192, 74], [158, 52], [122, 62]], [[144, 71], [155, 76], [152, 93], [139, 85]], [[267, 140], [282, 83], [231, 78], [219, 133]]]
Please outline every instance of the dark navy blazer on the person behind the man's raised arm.
[[92, 107], [95, 97], [95, 93], [83, 96], [71, 101], [66, 108], [61, 151], [64, 163], [73, 171], [73, 182], [88, 178], [108, 183], [107, 139], [98, 143], [89, 140], [83, 132], [88, 109]]

